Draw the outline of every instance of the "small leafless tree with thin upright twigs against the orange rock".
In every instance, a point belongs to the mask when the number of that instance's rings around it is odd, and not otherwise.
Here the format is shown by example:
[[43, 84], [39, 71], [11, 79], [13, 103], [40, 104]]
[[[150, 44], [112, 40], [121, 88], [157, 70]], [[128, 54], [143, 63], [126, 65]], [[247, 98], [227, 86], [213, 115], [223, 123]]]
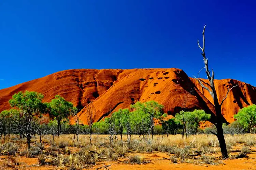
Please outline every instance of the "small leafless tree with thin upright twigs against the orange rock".
[[87, 123], [89, 126], [89, 131], [90, 131], [90, 144], [91, 144], [91, 134], [93, 133], [93, 123], [95, 121], [96, 118], [96, 109], [93, 105], [93, 102], [91, 102], [90, 104], [88, 104], [85, 107], [85, 113], [87, 115]]

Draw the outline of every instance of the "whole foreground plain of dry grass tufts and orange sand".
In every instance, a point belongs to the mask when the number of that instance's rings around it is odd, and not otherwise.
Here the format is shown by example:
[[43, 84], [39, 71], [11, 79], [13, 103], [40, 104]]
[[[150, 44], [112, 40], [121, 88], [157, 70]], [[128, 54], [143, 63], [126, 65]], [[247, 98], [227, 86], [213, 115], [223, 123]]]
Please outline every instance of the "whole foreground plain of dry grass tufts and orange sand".
[[109, 135], [60, 135], [54, 143], [45, 136], [42, 144], [34, 136], [30, 152], [25, 139], [19, 135], [1, 139], [0, 169], [250, 169], [255, 166], [256, 135], [225, 135], [228, 159], [221, 159], [215, 135], [155, 135], [154, 140], [140, 140], [132, 135], [131, 142], [115, 136], [113, 145]]

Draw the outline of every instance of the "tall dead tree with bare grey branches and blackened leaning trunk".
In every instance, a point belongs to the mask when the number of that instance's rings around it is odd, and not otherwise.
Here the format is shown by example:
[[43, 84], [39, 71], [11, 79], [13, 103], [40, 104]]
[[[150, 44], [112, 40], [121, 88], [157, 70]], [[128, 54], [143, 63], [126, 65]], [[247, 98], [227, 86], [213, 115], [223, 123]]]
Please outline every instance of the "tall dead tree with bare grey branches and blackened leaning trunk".
[[215, 112], [216, 112], [216, 116], [215, 116], [215, 126], [217, 128], [217, 133], [211, 132], [212, 134], [216, 135], [218, 140], [219, 140], [219, 147], [221, 148], [221, 154], [222, 154], [222, 158], [228, 158], [228, 152], [227, 152], [227, 147], [226, 147], [226, 142], [225, 142], [225, 138], [223, 135], [223, 129], [222, 129], [222, 124], [224, 121], [224, 118], [221, 114], [221, 105], [223, 104], [224, 100], [227, 98], [228, 93], [230, 92], [230, 90], [232, 90], [233, 87], [236, 87], [237, 85], [233, 86], [232, 88], [228, 89], [226, 96], [222, 99], [221, 103], [219, 103], [218, 100], [218, 96], [215, 90], [215, 86], [214, 86], [214, 72], [212, 69], [212, 75], [210, 75], [210, 71], [208, 68], [208, 59], [205, 56], [205, 38], [204, 38], [204, 31], [205, 31], [205, 27], [203, 28], [203, 47], [200, 46], [199, 44], [199, 40], [197, 40], [197, 44], [198, 47], [202, 50], [202, 56], [203, 56], [203, 61], [204, 61], [204, 69], [205, 69], [205, 73], [207, 75], [207, 79], [209, 81], [209, 86], [210, 88], [208, 88], [206, 85], [203, 84], [203, 81], [200, 78], [196, 78], [196, 80], [199, 82], [199, 84], [206, 89], [210, 95], [213, 98], [213, 102], [214, 102], [214, 107], [215, 107]]

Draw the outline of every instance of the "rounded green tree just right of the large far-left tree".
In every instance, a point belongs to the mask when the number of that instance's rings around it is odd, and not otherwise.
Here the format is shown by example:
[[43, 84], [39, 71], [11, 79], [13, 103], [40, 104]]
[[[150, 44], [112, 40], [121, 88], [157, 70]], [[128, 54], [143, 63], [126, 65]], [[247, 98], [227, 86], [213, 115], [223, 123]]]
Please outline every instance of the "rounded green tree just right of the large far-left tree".
[[61, 120], [68, 119], [72, 112], [77, 112], [77, 108], [73, 103], [66, 101], [60, 95], [56, 95], [51, 102], [47, 103], [48, 112], [54, 116], [58, 123], [58, 136], [61, 132]]

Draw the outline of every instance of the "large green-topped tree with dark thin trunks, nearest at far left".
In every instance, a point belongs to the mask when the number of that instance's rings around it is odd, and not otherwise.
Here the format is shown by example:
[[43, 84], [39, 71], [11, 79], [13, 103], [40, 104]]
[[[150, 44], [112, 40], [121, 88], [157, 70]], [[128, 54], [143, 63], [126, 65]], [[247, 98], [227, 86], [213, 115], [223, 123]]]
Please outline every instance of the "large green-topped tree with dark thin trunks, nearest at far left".
[[35, 133], [33, 117], [43, 113], [45, 110], [45, 105], [42, 103], [43, 97], [41, 93], [26, 91], [24, 93], [15, 93], [12, 99], [9, 100], [11, 107], [20, 109], [20, 115], [17, 115], [17, 112], [14, 113], [13, 121], [27, 139], [28, 153], [30, 150], [30, 141]]

